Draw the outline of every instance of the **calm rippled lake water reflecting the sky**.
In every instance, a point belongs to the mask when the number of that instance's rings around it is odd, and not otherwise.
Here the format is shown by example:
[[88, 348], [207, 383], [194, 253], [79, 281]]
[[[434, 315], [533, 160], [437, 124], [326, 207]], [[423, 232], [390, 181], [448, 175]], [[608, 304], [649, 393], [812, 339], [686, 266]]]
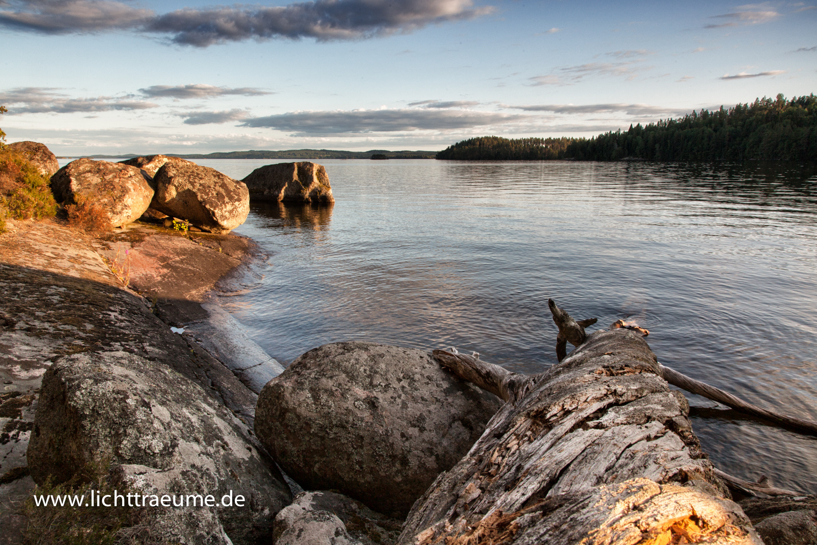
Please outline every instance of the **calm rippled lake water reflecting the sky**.
[[[279, 161], [197, 162], [241, 179]], [[552, 297], [591, 331], [635, 318], [663, 364], [817, 419], [814, 165], [320, 163], [337, 203], [252, 204], [236, 232], [270, 259], [221, 298], [283, 363], [366, 339], [538, 373], [556, 363]], [[817, 494], [817, 438], [688, 397], [718, 467]]]

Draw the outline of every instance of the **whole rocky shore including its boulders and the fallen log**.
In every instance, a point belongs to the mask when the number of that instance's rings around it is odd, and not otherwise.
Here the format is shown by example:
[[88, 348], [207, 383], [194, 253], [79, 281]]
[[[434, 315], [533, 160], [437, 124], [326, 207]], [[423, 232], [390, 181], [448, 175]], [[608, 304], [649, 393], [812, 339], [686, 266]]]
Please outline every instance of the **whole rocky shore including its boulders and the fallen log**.
[[284, 369], [218, 305], [266, 258], [229, 231], [249, 199], [333, 202], [319, 165], [41, 163], [113, 229], [0, 235], [0, 544], [817, 543], [817, 498], [732, 501], [632, 331], [535, 377], [374, 342]]

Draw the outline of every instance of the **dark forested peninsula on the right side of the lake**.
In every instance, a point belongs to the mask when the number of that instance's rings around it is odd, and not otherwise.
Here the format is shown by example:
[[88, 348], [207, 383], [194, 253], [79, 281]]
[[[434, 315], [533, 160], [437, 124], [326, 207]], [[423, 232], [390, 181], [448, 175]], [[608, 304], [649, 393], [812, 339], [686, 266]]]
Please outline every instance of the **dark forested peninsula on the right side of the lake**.
[[817, 159], [817, 96], [787, 100], [762, 98], [752, 103], [683, 118], [660, 120], [627, 131], [587, 138], [484, 136], [458, 142], [437, 159], [585, 161], [745, 161]]

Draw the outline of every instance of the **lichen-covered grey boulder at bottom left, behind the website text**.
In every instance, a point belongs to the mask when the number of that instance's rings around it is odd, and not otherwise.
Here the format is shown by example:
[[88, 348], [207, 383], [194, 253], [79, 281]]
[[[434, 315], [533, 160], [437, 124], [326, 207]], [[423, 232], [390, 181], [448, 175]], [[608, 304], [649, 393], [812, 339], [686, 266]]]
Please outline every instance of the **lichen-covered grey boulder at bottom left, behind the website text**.
[[[83, 353], [42, 378], [27, 458], [38, 484], [109, 462], [149, 497], [211, 495], [216, 507], [151, 507], [144, 524], [162, 543], [229, 543], [226, 534], [238, 545], [269, 538], [291, 499], [257, 446], [233, 413], [169, 367], [126, 352]], [[243, 505], [221, 506], [225, 494]]]

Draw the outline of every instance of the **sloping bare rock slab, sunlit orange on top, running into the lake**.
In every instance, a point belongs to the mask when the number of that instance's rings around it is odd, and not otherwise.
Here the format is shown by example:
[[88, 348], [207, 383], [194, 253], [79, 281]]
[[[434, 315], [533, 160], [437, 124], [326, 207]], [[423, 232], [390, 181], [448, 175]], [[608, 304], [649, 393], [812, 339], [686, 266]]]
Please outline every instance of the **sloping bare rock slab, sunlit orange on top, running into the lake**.
[[18, 511], [35, 486], [26, 450], [42, 377], [60, 356], [113, 350], [167, 364], [262, 448], [252, 434], [257, 393], [283, 366], [217, 302], [264, 257], [257, 243], [145, 223], [96, 237], [57, 219], [9, 223], [0, 235], [0, 543], [20, 543], [25, 529]]

